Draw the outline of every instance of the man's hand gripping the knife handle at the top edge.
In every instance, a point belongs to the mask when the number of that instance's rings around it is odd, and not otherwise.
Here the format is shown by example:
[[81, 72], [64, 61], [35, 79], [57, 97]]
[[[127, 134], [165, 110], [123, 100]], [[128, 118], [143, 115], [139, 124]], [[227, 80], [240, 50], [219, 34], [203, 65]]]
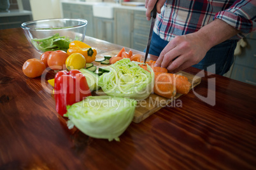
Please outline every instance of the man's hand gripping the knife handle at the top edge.
[[145, 8], [146, 8], [146, 20], [150, 20], [151, 18], [151, 11], [157, 2], [157, 13], [161, 13], [161, 8], [164, 6], [166, 0], [145, 0]]

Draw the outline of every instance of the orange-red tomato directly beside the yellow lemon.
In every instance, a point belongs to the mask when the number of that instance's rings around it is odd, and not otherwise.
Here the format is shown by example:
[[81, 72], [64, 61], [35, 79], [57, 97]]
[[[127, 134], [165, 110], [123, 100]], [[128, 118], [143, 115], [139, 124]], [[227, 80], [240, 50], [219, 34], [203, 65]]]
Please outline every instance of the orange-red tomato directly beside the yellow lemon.
[[47, 59], [47, 63], [52, 70], [63, 70], [66, 69], [67, 58], [68, 53], [62, 50], [57, 50], [50, 53]]

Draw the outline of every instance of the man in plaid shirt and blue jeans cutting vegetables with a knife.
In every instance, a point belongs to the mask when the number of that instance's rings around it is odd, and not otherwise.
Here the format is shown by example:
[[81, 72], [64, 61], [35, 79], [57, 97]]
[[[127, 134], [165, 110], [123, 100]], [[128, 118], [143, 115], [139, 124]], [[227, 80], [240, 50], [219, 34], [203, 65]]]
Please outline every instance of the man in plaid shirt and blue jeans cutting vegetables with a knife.
[[156, 2], [149, 53], [169, 72], [216, 64], [216, 74], [223, 75], [238, 39], [256, 30], [256, 0], [146, 0], [147, 20]]

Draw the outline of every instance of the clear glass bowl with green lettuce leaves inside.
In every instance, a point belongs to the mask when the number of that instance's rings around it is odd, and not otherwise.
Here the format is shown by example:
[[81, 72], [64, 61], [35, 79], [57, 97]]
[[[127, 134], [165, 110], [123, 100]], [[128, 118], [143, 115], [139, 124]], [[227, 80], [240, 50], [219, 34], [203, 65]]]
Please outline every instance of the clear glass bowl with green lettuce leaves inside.
[[27, 40], [39, 52], [68, 50], [69, 42], [83, 41], [87, 20], [54, 18], [22, 23]]

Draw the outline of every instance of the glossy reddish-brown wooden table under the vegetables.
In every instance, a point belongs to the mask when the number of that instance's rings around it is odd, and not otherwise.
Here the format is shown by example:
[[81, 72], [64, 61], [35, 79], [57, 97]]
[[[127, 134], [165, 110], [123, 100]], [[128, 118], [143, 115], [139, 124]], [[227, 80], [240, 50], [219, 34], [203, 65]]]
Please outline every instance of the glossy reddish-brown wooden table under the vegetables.
[[[98, 53], [122, 48], [85, 42]], [[40, 77], [25, 77], [23, 63], [39, 53], [22, 29], [0, 30], [0, 56], [0, 169], [256, 169], [255, 86], [206, 73], [178, 99], [181, 107], [132, 122], [120, 142], [110, 142], [69, 130]], [[208, 89], [212, 103], [198, 97]]]

